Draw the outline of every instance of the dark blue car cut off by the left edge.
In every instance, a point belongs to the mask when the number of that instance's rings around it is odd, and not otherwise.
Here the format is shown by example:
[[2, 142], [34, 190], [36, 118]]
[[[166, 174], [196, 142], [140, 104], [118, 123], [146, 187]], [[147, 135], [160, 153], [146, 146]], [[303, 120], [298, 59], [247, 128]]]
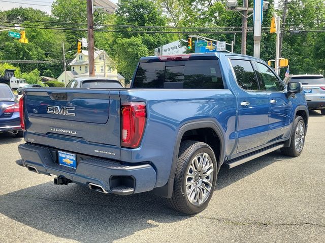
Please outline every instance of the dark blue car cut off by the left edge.
[[0, 84], [0, 133], [10, 132], [16, 137], [23, 137], [17, 98], [8, 85]]

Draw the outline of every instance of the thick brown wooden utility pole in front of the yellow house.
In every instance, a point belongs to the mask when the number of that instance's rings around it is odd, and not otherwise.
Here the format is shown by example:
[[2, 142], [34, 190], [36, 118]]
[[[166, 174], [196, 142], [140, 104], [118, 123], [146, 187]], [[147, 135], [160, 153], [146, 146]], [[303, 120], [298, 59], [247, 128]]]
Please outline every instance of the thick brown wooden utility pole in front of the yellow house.
[[95, 75], [95, 60], [94, 60], [94, 44], [93, 44], [93, 17], [92, 17], [92, 1], [87, 0], [87, 29], [88, 29], [88, 62], [89, 76]]

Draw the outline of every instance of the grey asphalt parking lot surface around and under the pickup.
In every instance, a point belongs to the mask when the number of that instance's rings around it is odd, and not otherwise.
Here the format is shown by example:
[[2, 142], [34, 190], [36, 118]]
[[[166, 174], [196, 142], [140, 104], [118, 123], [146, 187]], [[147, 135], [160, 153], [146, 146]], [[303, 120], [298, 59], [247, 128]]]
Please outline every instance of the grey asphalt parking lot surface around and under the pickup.
[[221, 169], [209, 207], [188, 217], [152, 193], [118, 196], [16, 165], [0, 134], [1, 242], [325, 242], [325, 117], [310, 112], [300, 157], [279, 151]]

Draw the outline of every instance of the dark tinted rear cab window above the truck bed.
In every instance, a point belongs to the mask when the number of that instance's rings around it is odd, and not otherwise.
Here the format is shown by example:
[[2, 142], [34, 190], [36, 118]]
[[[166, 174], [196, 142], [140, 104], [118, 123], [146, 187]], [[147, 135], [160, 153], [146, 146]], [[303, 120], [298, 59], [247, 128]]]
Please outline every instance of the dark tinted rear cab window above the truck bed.
[[218, 60], [140, 63], [134, 89], [224, 89]]

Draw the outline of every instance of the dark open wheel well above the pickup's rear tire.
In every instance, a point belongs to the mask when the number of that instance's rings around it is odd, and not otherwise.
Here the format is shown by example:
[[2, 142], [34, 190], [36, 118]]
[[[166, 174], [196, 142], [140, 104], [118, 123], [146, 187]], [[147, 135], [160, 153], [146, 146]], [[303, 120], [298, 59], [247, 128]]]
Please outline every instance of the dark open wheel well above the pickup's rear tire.
[[219, 165], [221, 149], [220, 138], [212, 128], [200, 128], [186, 131], [183, 134], [181, 141], [185, 140], [199, 141], [208, 144], [212, 148], [214, 155], [217, 159], [217, 164]]

